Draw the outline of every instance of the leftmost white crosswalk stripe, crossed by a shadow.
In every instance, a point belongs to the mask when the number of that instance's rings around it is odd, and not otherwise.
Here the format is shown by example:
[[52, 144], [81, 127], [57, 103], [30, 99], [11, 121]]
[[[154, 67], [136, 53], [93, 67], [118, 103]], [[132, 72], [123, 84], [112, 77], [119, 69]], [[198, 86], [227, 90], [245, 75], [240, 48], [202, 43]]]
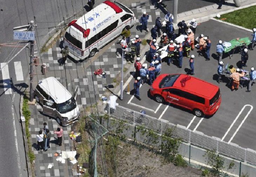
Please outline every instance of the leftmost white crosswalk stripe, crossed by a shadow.
[[7, 63], [1, 63], [1, 71], [2, 71], [2, 77], [3, 77], [3, 85], [4, 85], [4, 90], [5, 94], [12, 94], [12, 86], [11, 86], [11, 80], [9, 76], [9, 68]]

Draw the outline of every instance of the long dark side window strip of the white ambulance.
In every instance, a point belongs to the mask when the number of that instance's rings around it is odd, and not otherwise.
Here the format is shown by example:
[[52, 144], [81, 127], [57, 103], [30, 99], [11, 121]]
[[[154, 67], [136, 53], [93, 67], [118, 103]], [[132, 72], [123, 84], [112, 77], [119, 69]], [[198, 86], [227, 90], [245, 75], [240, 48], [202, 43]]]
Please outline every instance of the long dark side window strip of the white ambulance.
[[100, 38], [106, 36], [110, 31], [115, 29], [117, 27], [117, 25], [118, 25], [118, 20], [115, 21], [114, 23], [110, 24], [107, 28], [103, 29], [98, 34], [94, 35], [92, 38], [90, 38], [88, 41], [85, 42], [85, 48], [92, 45], [93, 43], [95, 43]]

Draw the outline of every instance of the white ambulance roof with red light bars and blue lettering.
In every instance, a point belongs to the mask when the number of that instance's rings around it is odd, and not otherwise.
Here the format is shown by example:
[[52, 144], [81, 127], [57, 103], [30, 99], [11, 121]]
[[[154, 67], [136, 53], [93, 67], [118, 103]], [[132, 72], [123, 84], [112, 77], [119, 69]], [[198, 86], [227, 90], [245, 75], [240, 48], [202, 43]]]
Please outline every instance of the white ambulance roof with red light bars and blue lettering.
[[[105, 26], [105, 24], [110, 24], [109, 21], [111, 21], [114, 17], [114, 15], [124, 13], [126, 12], [121, 9], [118, 5], [116, 5], [114, 2], [111, 1], [104, 1], [100, 5], [96, 6], [94, 9], [90, 10], [88, 13], [83, 15], [77, 20], [73, 20], [69, 23], [69, 33], [77, 35], [79, 38], [83, 38], [83, 32], [78, 29], [79, 25], [84, 30], [89, 29], [89, 35], [88, 37], [92, 37], [96, 34], [96, 31], [101, 31], [100, 29]], [[76, 25], [72, 25], [72, 23], [76, 23]]]

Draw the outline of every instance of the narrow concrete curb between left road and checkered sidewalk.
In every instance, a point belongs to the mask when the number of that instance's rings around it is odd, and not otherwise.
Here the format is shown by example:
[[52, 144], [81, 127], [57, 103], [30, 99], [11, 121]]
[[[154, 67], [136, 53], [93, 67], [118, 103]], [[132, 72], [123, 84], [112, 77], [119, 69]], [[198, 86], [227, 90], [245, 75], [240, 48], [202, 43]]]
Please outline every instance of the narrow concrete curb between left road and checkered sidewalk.
[[[23, 95], [20, 97], [20, 117], [23, 117], [23, 111], [22, 111], [22, 106], [23, 106]], [[26, 155], [26, 163], [27, 163], [27, 170], [28, 170], [28, 176], [32, 176], [32, 171], [31, 171], [31, 163], [29, 161], [28, 157], [28, 141], [27, 141], [27, 135], [26, 135], [26, 130], [25, 130], [25, 119], [20, 119], [21, 120], [21, 126], [22, 126], [22, 135], [23, 135], [23, 141], [25, 145], [25, 155]]]

